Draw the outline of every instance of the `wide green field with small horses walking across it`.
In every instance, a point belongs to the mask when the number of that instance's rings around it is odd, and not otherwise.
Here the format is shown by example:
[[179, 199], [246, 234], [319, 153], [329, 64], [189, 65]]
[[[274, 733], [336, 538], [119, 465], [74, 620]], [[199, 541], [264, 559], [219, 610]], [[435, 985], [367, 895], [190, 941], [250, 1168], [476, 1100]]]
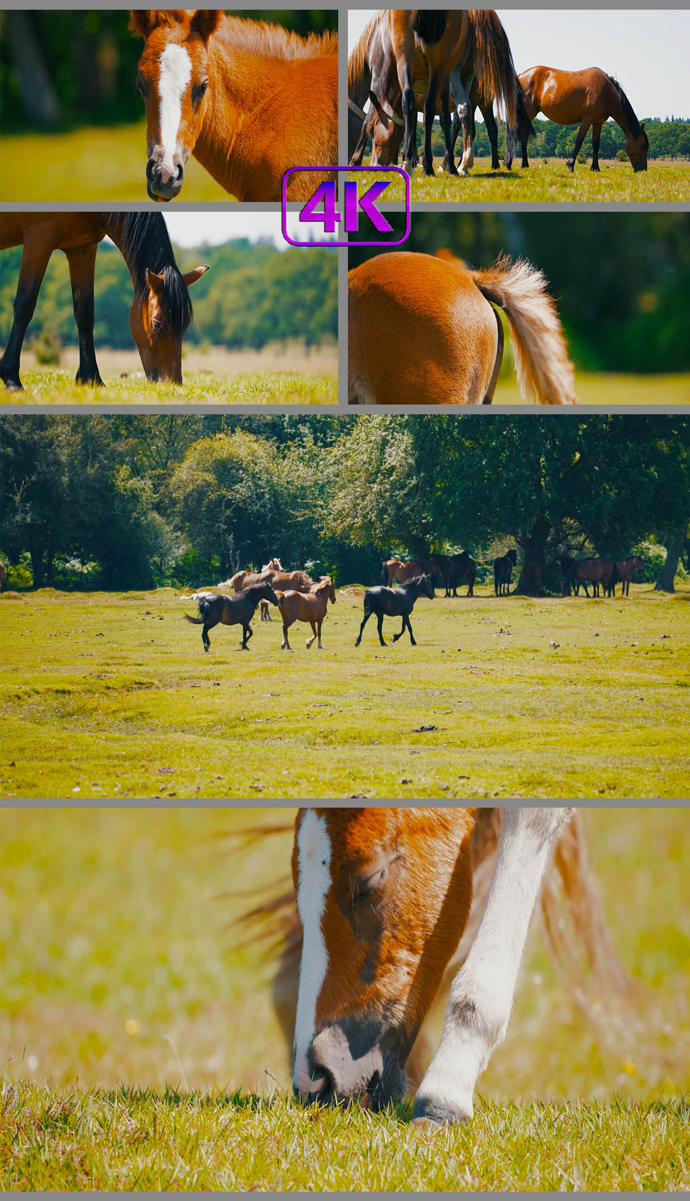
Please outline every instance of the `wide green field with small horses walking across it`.
[[0, 796], [688, 794], [684, 585], [437, 594], [414, 610], [418, 646], [379, 646], [370, 621], [359, 649], [364, 590], [338, 588], [323, 651], [300, 625], [281, 651], [257, 615], [248, 651], [221, 626], [208, 656], [182, 621], [192, 591], [5, 593]]

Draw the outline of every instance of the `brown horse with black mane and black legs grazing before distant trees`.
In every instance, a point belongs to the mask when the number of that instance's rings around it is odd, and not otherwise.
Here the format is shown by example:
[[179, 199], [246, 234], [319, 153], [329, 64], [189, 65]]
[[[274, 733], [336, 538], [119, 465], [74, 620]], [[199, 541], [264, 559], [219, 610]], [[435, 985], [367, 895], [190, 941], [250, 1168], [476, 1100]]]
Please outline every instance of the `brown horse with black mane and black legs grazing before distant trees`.
[[48, 259], [61, 250], [70, 267], [74, 322], [79, 335], [77, 383], [101, 386], [94, 346], [94, 275], [96, 251], [110, 238], [125, 259], [134, 299], [130, 333], [146, 378], [182, 382], [182, 339], [192, 322], [188, 288], [208, 271], [196, 267], [181, 275], [160, 213], [4, 213], [0, 250], [23, 246], [14, 297], [14, 319], [0, 359], [7, 392], [22, 392], [19, 359]]

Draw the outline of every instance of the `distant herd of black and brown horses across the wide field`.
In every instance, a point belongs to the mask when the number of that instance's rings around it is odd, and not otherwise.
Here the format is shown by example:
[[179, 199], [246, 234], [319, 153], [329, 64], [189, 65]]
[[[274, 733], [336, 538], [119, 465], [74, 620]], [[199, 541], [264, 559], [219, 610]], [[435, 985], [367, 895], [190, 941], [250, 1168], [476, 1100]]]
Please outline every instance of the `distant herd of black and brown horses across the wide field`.
[[[509, 596], [512, 569], [517, 562], [515, 548], [505, 555], [500, 555], [493, 561], [493, 588], [496, 596]], [[643, 567], [638, 555], [630, 555], [628, 558], [616, 561], [613, 558], [571, 558], [564, 556], [560, 560], [563, 573], [563, 596], [570, 596], [572, 588], [575, 596], [580, 594], [580, 587], [584, 588], [589, 597], [588, 584], [592, 584], [592, 596], [614, 596], [616, 585], [620, 582], [622, 594], [628, 596], [630, 580], [636, 567]], [[433, 600], [436, 597], [434, 584], [440, 581], [445, 586], [445, 596], [457, 596], [457, 587], [461, 582], [467, 582], [467, 594], [474, 596], [474, 581], [478, 563], [467, 550], [456, 555], [432, 554], [428, 560], [386, 558], [382, 563], [380, 584], [367, 588], [364, 594], [364, 616], [355, 639], [355, 646], [361, 643], [365, 626], [370, 617], [376, 616], [378, 639], [385, 646], [383, 637], [384, 617], [402, 617], [402, 626], [397, 634], [391, 638], [391, 644], [402, 638], [406, 629], [413, 646], [416, 646], [412, 625], [409, 621], [415, 602], [420, 596]], [[394, 581], [398, 582], [392, 587]], [[275, 605], [281, 615], [283, 627], [283, 640], [281, 650], [292, 651], [288, 631], [296, 621], [311, 626], [312, 637], [307, 639], [307, 650], [317, 643], [319, 651], [324, 650], [322, 643], [322, 628], [330, 604], [336, 603], [335, 584], [330, 575], [322, 576], [314, 581], [305, 570], [284, 572], [280, 558], [274, 557], [260, 572], [241, 570], [235, 572], [229, 580], [218, 584], [221, 592], [193, 592], [191, 596], [180, 597], [181, 600], [194, 600], [197, 603], [198, 617], [185, 614], [185, 621], [193, 626], [202, 626], [202, 643], [204, 651], [209, 651], [209, 631], [215, 626], [241, 626], [242, 641], [241, 650], [248, 650], [247, 643], [253, 635], [251, 628], [252, 619], [260, 609], [262, 621], [272, 621], [269, 607]], [[232, 590], [232, 591], [230, 591]]]

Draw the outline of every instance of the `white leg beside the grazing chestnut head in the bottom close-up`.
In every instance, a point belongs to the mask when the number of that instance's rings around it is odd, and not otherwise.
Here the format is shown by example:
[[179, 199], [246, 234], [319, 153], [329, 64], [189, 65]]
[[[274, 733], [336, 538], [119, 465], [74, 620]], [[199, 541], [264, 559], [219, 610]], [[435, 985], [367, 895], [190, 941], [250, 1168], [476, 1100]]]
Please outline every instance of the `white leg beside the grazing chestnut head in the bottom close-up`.
[[574, 809], [503, 809], [486, 908], [452, 987], [438, 1050], [418, 1089], [418, 1122], [469, 1122], [478, 1077], [503, 1041], [529, 920], [557, 832]]

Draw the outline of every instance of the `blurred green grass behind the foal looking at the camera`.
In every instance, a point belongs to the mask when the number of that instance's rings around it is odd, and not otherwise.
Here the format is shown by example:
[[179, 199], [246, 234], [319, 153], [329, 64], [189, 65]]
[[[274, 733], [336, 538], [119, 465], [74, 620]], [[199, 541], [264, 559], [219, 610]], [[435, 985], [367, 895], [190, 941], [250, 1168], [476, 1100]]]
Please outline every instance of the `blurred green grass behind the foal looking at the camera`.
[[[146, 123], [85, 127], [70, 133], [12, 133], [0, 138], [0, 201], [116, 201], [149, 203]], [[190, 157], [180, 199], [234, 199]]]

